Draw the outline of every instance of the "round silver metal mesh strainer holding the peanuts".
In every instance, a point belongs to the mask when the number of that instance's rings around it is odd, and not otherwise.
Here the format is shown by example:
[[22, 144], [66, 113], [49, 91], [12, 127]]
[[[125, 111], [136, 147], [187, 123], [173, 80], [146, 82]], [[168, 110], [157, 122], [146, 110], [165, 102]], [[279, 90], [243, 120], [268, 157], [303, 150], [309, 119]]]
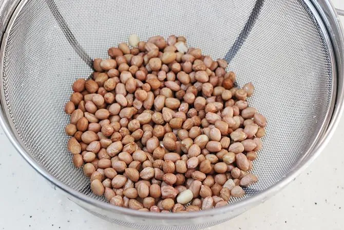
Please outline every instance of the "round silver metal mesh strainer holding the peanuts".
[[[229, 220], [271, 197], [314, 160], [333, 134], [343, 100], [343, 32], [328, 0], [0, 1], [1, 124], [55, 189], [94, 215], [140, 229], [196, 229]], [[249, 103], [268, 120], [254, 162], [259, 181], [243, 199], [212, 210], [155, 214], [112, 206], [72, 164], [64, 104], [92, 58], [137, 33], [182, 35], [225, 57]]]

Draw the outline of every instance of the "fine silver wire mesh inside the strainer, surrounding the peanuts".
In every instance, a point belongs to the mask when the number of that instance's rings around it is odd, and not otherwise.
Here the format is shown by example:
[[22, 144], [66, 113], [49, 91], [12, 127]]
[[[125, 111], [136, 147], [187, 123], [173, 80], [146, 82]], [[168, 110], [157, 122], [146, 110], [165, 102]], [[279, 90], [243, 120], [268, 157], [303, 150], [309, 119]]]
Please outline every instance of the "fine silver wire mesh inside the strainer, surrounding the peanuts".
[[[49, 2], [49, 1], [47, 1]], [[94, 199], [67, 151], [64, 105], [72, 82], [92, 69], [66, 39], [46, 1], [27, 1], [16, 15], [4, 51], [7, 114], [28, 152], [55, 178]], [[263, 2], [263, 1], [262, 1]], [[182, 35], [189, 47], [223, 58], [256, 1], [55, 1], [74, 38], [91, 58], [107, 49], [161, 34]], [[333, 79], [329, 47], [303, 1], [264, 1], [250, 34], [230, 62], [238, 85], [253, 82], [249, 99], [268, 120], [263, 150], [254, 162], [258, 183], [247, 196], [285, 176], [304, 157], [325, 121]]]

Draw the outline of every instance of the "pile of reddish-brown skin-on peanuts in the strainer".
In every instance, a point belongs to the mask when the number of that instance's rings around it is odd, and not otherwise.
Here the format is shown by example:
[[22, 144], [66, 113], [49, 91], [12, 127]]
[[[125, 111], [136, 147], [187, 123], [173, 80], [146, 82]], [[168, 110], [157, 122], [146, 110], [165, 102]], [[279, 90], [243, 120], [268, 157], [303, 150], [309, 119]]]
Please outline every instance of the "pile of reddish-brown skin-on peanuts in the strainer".
[[158, 213], [204, 210], [242, 197], [262, 148], [266, 119], [233, 87], [227, 62], [188, 48], [184, 37], [129, 45], [95, 59], [66, 103], [75, 167], [113, 205]]

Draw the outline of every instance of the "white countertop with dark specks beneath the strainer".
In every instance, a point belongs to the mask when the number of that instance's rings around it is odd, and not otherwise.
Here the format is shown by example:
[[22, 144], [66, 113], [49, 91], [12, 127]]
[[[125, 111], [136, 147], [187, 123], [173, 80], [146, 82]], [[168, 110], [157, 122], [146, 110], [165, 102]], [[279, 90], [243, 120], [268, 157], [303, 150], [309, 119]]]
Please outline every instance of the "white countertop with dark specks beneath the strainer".
[[[333, 1], [344, 9], [342, 0]], [[344, 20], [344, 18], [343, 18]], [[275, 197], [226, 223], [225, 229], [343, 229], [344, 118], [321, 155]], [[36, 173], [0, 128], [1, 229], [128, 229], [92, 216]]]

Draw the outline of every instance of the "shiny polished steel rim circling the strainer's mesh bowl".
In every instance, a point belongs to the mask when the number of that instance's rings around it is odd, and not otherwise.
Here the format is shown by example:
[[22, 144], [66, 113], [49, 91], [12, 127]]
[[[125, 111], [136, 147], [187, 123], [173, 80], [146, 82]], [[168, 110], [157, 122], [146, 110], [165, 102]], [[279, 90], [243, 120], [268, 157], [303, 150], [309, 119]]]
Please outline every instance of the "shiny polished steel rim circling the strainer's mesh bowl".
[[[4, 54], [5, 54], [5, 49], [4, 46], [6, 44], [7, 41], [7, 37], [9, 36], [9, 31], [11, 29], [11, 27], [13, 26], [13, 22], [16, 19], [17, 16], [17, 12], [20, 11], [25, 4], [28, 2], [28, 0], [22, 0], [20, 2], [20, 4], [16, 7], [15, 12], [12, 14], [13, 16], [11, 17], [11, 20], [9, 22], [9, 27], [6, 28], [6, 31], [3, 35], [3, 40], [2, 40], [2, 52], [1, 52], [1, 57], [0, 59], [2, 60], [1, 62], [1, 76], [3, 77], [3, 68], [4, 68], [4, 62], [3, 62], [3, 58], [4, 58]], [[318, 14], [318, 12], [315, 10], [315, 7], [313, 6], [313, 4], [311, 2], [315, 2], [315, 0], [304, 0], [304, 2], [308, 5], [308, 7], [311, 9], [312, 13], [314, 14], [314, 16], [316, 17], [316, 21], [319, 24], [319, 27], [321, 28], [322, 33], [324, 34], [324, 37], [326, 38], [327, 44], [329, 45], [329, 50], [331, 51], [332, 54], [330, 54], [330, 57], [332, 57], [333, 61], [335, 60], [335, 55], [334, 55], [334, 50], [331, 46], [331, 41], [329, 38], [329, 34], [328, 31], [326, 30], [326, 27], [323, 24], [324, 19], [321, 19], [321, 16]], [[322, 1], [324, 4], [326, 4], [329, 9], [332, 12], [332, 16], [336, 16], [336, 13], [334, 11], [334, 7], [332, 6], [332, 4], [330, 3], [329, 0], [323, 0]], [[313, 10], [312, 10], [313, 9]], [[337, 29], [339, 30], [338, 32], [340, 33], [340, 40], [341, 42], [344, 43], [344, 39], [343, 39], [343, 29], [341, 27], [340, 24], [336, 25]], [[338, 55], [338, 54], [337, 54]], [[333, 62], [333, 65], [335, 67], [337, 67], [335, 65], [335, 62]], [[335, 73], [335, 68], [333, 68], [333, 73], [332, 73], [333, 79], [337, 79], [338, 75]], [[335, 83], [335, 82], [334, 82]], [[2, 87], [0, 87], [0, 92], [1, 92], [1, 97], [0, 97], [0, 104], [2, 104], [2, 107], [6, 105], [6, 102], [3, 99], [3, 95], [4, 95], [4, 89], [3, 89], [3, 80], [0, 81], [0, 84]], [[334, 84], [333, 84], [334, 87]], [[29, 153], [27, 153], [27, 151], [25, 150], [25, 146], [21, 144], [21, 140], [19, 140], [16, 135], [14, 134], [15, 132], [13, 131], [12, 125], [9, 122], [8, 117], [6, 117], [5, 114], [6, 111], [0, 110], [0, 124], [2, 125], [4, 132], [6, 133], [6, 135], [8, 136], [9, 140], [11, 141], [12, 145], [15, 147], [15, 149], [24, 157], [24, 159], [37, 171], [39, 172], [46, 180], [48, 180], [50, 183], [52, 183], [54, 186], [57, 186], [58, 188], [60, 188], [61, 190], [63, 190], [64, 192], [66, 192], [67, 194], [71, 195], [72, 197], [74, 197], [75, 199], [81, 200], [83, 202], [86, 202], [88, 204], [91, 204], [93, 206], [97, 206], [99, 208], [103, 208], [106, 210], [115, 210], [118, 211], [122, 214], [127, 214], [130, 216], [137, 216], [137, 217], [141, 217], [141, 218], [166, 218], [169, 220], [176, 220], [176, 219], [189, 219], [189, 218], [194, 218], [194, 217], [205, 217], [205, 216], [212, 216], [216, 213], [218, 213], [219, 211], [222, 213], [227, 213], [230, 212], [231, 210], [234, 209], [242, 209], [246, 206], [248, 206], [249, 204], [255, 204], [258, 202], [263, 202], [264, 200], [266, 200], [267, 198], [271, 197], [273, 194], [275, 194], [276, 192], [278, 192], [281, 188], [283, 188], [285, 185], [289, 184], [304, 168], [308, 167], [311, 162], [320, 154], [321, 150], [326, 146], [326, 144], [328, 143], [329, 139], [331, 138], [331, 136], [333, 135], [334, 131], [335, 131], [335, 127], [337, 126], [338, 122], [339, 122], [339, 117], [342, 114], [343, 111], [343, 107], [342, 107], [342, 101], [343, 101], [343, 94], [342, 92], [344, 91], [343, 86], [341, 85], [341, 88], [339, 89], [333, 89], [332, 92], [341, 92], [340, 97], [333, 97], [331, 100], [331, 107], [329, 107], [329, 111], [327, 114], [327, 117], [325, 119], [326, 122], [324, 122], [322, 124], [322, 127], [317, 135], [317, 137], [315, 138], [313, 144], [310, 146], [310, 148], [307, 150], [307, 152], [305, 153], [305, 155], [307, 154], [313, 154], [309, 160], [307, 160], [307, 162], [303, 162], [300, 161], [299, 164], [295, 165], [293, 168], [291, 168], [291, 171], [285, 175], [285, 177], [280, 180], [279, 182], [277, 182], [276, 184], [272, 185], [271, 187], [267, 188], [266, 190], [255, 194], [252, 197], [246, 198], [243, 201], [240, 202], [236, 202], [236, 203], [232, 203], [231, 205], [227, 205], [221, 208], [216, 208], [216, 209], [210, 209], [210, 210], [203, 210], [201, 212], [191, 212], [191, 213], [183, 213], [183, 214], [178, 214], [178, 213], [174, 213], [174, 214], [161, 214], [161, 213], [146, 213], [146, 212], [141, 212], [141, 211], [137, 211], [137, 210], [131, 210], [128, 208], [124, 208], [124, 207], [118, 207], [118, 206], [114, 206], [108, 203], [105, 203], [103, 201], [98, 201], [95, 199], [92, 199], [88, 196], [86, 196], [83, 193], [80, 193], [74, 189], [71, 189], [70, 187], [68, 187], [67, 185], [63, 184], [61, 181], [57, 180], [56, 178], [54, 178], [54, 176], [52, 176], [44, 167], [42, 167]], [[5, 103], [4, 103], [5, 102]], [[335, 102], [337, 102], [336, 107], [334, 107]], [[331, 117], [330, 117], [331, 115]]]

